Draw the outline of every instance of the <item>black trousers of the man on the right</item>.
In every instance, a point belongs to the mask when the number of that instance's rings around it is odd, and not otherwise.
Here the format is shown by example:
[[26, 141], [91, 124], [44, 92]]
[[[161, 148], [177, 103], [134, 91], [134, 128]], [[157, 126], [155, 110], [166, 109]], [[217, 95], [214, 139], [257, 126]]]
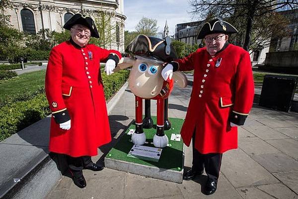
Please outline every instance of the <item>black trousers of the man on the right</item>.
[[194, 171], [205, 172], [208, 178], [217, 181], [220, 176], [220, 170], [222, 165], [222, 153], [208, 153], [202, 154], [195, 149], [195, 132], [192, 137], [192, 149], [193, 149], [193, 162], [192, 169]]

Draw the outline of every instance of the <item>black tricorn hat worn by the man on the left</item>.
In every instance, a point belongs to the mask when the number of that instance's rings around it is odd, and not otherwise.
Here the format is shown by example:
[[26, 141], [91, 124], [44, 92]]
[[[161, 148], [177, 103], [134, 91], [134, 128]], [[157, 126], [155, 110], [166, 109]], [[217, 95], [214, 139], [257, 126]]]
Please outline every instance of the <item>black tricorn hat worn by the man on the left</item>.
[[88, 27], [91, 32], [91, 37], [99, 38], [99, 34], [98, 34], [97, 28], [95, 26], [95, 23], [90, 16], [86, 16], [81, 13], [76, 13], [64, 24], [63, 28], [65, 28], [67, 30], [71, 30], [71, 28], [75, 24], [81, 24], [81, 25]]

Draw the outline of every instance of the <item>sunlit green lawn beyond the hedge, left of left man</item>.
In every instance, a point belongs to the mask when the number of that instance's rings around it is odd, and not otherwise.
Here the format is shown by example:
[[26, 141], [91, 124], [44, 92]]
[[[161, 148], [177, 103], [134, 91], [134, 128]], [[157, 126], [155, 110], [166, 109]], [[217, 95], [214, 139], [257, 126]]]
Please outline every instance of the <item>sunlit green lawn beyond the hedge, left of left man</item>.
[[0, 104], [17, 95], [36, 91], [45, 85], [46, 70], [24, 73], [16, 78], [0, 82]]

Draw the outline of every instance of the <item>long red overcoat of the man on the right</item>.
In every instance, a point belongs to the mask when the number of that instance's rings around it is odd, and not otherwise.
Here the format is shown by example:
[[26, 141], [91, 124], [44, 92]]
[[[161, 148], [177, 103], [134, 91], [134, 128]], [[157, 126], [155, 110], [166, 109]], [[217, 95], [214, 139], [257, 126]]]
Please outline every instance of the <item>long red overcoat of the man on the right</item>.
[[181, 129], [189, 146], [193, 133], [195, 148], [203, 154], [224, 153], [237, 148], [237, 127], [230, 117], [248, 115], [254, 97], [254, 82], [248, 52], [228, 44], [211, 56], [200, 48], [177, 60], [180, 71], [194, 70], [194, 82], [185, 122]]

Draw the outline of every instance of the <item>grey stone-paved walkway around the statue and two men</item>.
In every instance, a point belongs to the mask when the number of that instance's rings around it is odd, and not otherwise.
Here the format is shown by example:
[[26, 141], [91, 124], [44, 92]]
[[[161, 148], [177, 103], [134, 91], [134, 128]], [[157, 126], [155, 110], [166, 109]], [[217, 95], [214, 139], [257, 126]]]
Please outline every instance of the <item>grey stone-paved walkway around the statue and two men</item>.
[[[174, 88], [169, 117], [185, 117], [191, 89]], [[156, 115], [155, 102], [151, 106]], [[93, 161], [103, 158], [134, 120], [134, 95], [129, 89], [109, 115], [114, 139], [99, 149]], [[191, 154], [191, 147], [186, 147], [184, 169], [191, 167]], [[107, 168], [84, 170], [84, 176], [86, 188], [77, 188], [63, 176], [46, 199], [298, 199], [298, 113], [254, 105], [245, 126], [239, 128], [239, 148], [224, 153], [218, 190], [211, 196], [201, 193], [205, 174], [182, 184]]]

